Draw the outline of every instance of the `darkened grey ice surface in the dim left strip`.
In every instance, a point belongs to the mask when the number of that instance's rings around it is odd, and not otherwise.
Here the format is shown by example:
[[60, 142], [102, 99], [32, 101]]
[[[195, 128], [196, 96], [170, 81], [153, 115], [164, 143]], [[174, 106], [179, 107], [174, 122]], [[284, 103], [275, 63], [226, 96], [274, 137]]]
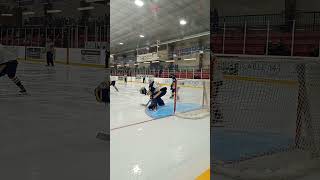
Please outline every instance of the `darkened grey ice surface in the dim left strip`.
[[20, 62], [17, 75], [31, 95], [0, 78], [0, 179], [107, 179], [108, 144], [95, 135], [109, 123], [93, 95], [105, 70]]

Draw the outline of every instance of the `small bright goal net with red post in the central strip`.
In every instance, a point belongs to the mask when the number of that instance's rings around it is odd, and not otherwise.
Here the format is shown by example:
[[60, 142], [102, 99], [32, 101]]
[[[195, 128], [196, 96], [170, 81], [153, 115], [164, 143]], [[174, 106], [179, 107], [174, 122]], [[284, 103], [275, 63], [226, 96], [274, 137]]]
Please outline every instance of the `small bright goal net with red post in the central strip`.
[[210, 81], [178, 79], [174, 96], [174, 112], [184, 119], [203, 119], [210, 116]]

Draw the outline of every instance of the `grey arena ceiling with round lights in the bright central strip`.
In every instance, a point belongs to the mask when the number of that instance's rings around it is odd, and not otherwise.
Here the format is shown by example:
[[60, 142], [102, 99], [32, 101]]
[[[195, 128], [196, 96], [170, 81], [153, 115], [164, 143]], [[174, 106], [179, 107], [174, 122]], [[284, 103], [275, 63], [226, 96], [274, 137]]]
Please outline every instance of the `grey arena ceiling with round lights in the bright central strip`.
[[[210, 31], [210, 0], [142, 1], [138, 7], [135, 0], [111, 0], [111, 53]], [[181, 19], [187, 24], [181, 26]]]

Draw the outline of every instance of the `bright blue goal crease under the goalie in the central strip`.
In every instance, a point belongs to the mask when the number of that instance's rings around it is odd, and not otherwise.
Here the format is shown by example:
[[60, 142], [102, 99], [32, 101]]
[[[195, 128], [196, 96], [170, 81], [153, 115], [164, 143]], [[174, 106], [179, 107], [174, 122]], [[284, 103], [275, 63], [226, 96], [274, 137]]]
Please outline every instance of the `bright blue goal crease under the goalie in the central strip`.
[[[200, 104], [192, 104], [192, 103], [178, 103], [176, 105], [176, 112], [188, 112], [201, 109]], [[166, 103], [164, 106], [158, 106], [156, 111], [149, 110], [146, 108], [146, 114], [153, 119], [160, 119], [164, 117], [169, 117], [174, 115], [174, 103], [169, 102]]]

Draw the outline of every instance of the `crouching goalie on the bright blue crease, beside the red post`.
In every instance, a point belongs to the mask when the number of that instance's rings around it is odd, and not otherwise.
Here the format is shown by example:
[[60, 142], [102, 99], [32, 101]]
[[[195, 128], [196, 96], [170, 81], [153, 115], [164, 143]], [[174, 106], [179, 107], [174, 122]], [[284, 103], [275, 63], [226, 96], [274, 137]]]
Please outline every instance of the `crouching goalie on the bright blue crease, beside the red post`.
[[[154, 81], [151, 81], [149, 84], [149, 91], [147, 91], [144, 87], [140, 89], [140, 93], [144, 95], [150, 96], [150, 105], [148, 106], [149, 110], [157, 110], [158, 106], [164, 106], [165, 103], [162, 100], [162, 96], [166, 95], [167, 88], [162, 87], [159, 88]], [[148, 104], [149, 104], [148, 102]], [[148, 105], [147, 104], [147, 105]]]

